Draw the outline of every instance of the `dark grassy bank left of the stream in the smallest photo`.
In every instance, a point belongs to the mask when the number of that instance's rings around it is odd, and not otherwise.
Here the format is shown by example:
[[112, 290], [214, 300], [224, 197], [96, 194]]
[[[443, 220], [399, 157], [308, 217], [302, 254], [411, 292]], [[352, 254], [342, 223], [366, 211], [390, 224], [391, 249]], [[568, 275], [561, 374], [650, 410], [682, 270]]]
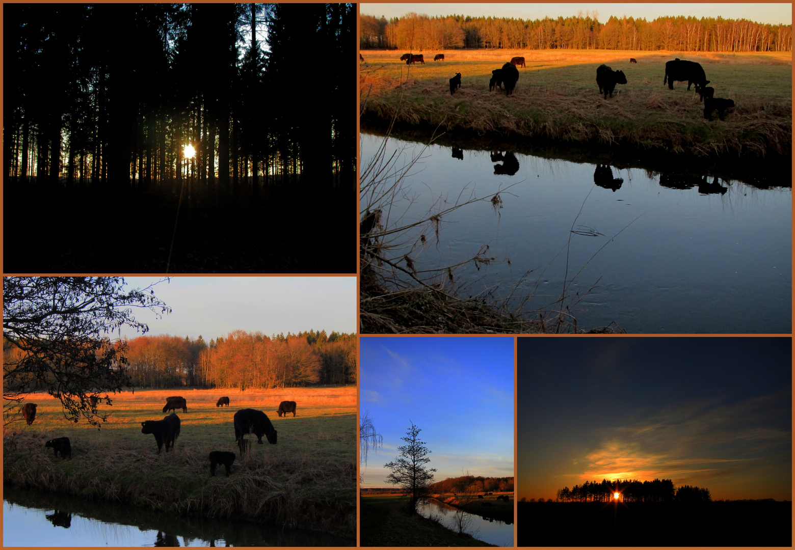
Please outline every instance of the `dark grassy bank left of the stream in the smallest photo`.
[[359, 546], [493, 546], [406, 512], [405, 500], [402, 495], [362, 497]]

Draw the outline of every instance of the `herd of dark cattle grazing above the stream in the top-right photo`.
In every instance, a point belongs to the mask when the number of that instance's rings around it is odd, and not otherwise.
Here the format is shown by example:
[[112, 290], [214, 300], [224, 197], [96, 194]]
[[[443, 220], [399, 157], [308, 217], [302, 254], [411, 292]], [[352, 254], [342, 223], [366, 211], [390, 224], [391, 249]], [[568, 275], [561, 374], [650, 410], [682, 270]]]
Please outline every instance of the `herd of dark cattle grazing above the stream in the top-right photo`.
[[[425, 59], [421, 53], [404, 53], [400, 59], [405, 61], [407, 65], [412, 63], [425, 64]], [[361, 53], [359, 53], [359, 60], [364, 60]], [[444, 53], [437, 53], [433, 60], [444, 61]], [[637, 64], [638, 60], [630, 57], [630, 63]], [[491, 80], [489, 80], [489, 91], [498, 87], [500, 90], [504, 90], [506, 95], [511, 95], [519, 79], [518, 67], [526, 67], [524, 57], [514, 57], [509, 63], [502, 65], [502, 68], [494, 69], [491, 72]], [[695, 61], [681, 60], [677, 57], [673, 61], [666, 62], [665, 78], [662, 83], [668, 83], [669, 89], [673, 90], [674, 80], [678, 82], [686, 80], [688, 82], [688, 91], [690, 91], [690, 86], [695, 84], [699, 102], [704, 102], [704, 118], [708, 120], [712, 120], [712, 113], [715, 110], [718, 111], [720, 120], [725, 120], [726, 111], [735, 107], [733, 100], [715, 97], [715, 88], [707, 86], [709, 80], [704, 74], [704, 68]], [[626, 84], [626, 75], [623, 71], [613, 71], [607, 65], [601, 64], [596, 68], [596, 83], [599, 86], [599, 94], [604, 94], [604, 99], [607, 99], [607, 95], [613, 97], [616, 84]], [[450, 79], [450, 95], [456, 93], [456, 90], [460, 87], [461, 73], [456, 72], [456, 76]]]

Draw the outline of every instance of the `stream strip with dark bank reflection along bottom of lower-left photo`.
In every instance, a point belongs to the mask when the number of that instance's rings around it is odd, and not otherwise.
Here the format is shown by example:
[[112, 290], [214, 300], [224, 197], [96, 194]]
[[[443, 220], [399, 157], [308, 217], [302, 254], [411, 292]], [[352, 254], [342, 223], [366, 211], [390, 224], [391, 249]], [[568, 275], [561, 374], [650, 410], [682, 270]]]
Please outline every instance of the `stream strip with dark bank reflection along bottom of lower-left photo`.
[[3, 546], [355, 546], [355, 539], [250, 521], [170, 516], [3, 487]]

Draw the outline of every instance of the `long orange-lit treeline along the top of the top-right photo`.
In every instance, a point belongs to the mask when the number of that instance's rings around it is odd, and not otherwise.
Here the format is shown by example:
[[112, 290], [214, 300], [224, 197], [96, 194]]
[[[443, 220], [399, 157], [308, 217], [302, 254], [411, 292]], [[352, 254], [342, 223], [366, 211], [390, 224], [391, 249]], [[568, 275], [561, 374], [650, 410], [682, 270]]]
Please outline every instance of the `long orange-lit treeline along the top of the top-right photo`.
[[722, 17], [595, 16], [535, 19], [448, 15], [362, 15], [359, 48], [422, 52], [455, 48], [624, 49], [681, 52], [789, 52], [792, 25], [770, 25]]

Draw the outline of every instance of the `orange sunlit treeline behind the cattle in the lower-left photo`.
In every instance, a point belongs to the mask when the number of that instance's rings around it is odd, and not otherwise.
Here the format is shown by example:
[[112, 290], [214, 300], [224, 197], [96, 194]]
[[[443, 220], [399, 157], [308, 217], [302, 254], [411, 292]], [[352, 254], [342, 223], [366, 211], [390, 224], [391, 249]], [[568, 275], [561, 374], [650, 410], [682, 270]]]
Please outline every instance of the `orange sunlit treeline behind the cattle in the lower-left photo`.
[[356, 336], [326, 331], [274, 335], [234, 331], [202, 336], [139, 336], [127, 348], [135, 387], [182, 385], [276, 388], [356, 383]]

